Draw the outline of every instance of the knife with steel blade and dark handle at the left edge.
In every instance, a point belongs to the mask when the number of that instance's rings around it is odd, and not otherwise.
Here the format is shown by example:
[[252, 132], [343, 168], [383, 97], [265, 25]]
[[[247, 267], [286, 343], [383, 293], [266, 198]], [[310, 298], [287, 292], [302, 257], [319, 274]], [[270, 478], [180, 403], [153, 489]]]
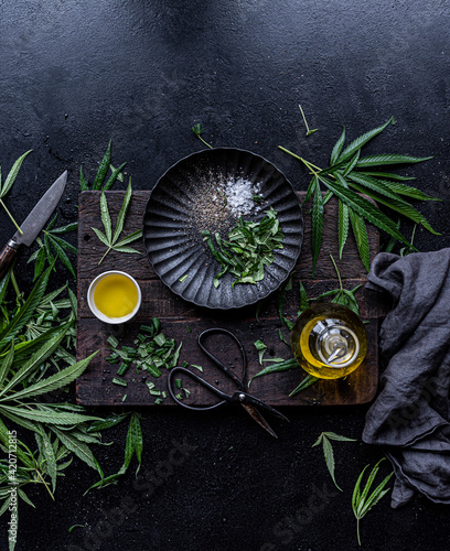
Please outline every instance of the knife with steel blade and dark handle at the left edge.
[[61, 174], [61, 176], [49, 187], [31, 213], [26, 216], [20, 227], [22, 233], [19, 230], [15, 231], [12, 238], [0, 251], [0, 278], [4, 276], [8, 268], [11, 266], [19, 247], [21, 245], [30, 247], [30, 245], [38, 237], [39, 233], [50, 218], [50, 215], [60, 203], [66, 183], [67, 171], [63, 172], [63, 174]]

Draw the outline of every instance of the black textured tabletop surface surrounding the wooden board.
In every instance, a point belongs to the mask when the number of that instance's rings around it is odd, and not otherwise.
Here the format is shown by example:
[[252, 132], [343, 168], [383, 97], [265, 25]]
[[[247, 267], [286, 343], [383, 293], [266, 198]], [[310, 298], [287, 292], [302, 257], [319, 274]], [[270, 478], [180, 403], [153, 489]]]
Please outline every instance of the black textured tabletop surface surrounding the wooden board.
[[[214, 145], [262, 154], [304, 190], [304, 170], [278, 144], [324, 165], [343, 125], [354, 138], [394, 115], [397, 125], [367, 152], [435, 156], [404, 171], [444, 202], [419, 207], [442, 236], [419, 229], [415, 242], [421, 250], [449, 246], [449, 20], [443, 0], [1, 0], [3, 174], [33, 149], [7, 204], [23, 219], [67, 169], [58, 222], [76, 219], [79, 165], [93, 179], [109, 138], [133, 187], [151, 188], [202, 148], [191, 132], [196, 122]], [[319, 128], [308, 139], [299, 102]], [[7, 241], [13, 228], [2, 210], [0, 228]], [[28, 255], [18, 270], [24, 289]], [[21, 507], [18, 550], [357, 549], [352, 489], [383, 454], [361, 442], [365, 412], [292, 410], [275, 441], [237, 411], [152, 411], [142, 423], [142, 473], [161, 484], [137, 487], [131, 469], [117, 486], [83, 496], [96, 474], [74, 461], [55, 503], [43, 489], [30, 493], [39, 507]], [[125, 431], [97, 452], [107, 474], [121, 465]], [[322, 431], [358, 440], [334, 446], [343, 493], [321, 450], [311, 450]], [[173, 455], [173, 439], [192, 447], [184, 461]], [[308, 503], [310, 517], [301, 511]], [[298, 511], [303, 526], [294, 532]], [[446, 549], [448, 515], [420, 498], [394, 511], [385, 498], [362, 521], [363, 549]], [[87, 526], [68, 533], [74, 523]]]

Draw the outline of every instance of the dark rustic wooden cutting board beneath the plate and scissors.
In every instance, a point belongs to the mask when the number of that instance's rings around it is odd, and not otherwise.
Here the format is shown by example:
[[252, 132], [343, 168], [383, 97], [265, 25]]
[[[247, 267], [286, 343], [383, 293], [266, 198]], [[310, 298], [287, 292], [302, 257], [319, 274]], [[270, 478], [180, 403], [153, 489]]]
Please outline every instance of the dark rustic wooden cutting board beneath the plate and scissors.
[[[147, 191], [133, 192], [130, 202], [125, 235], [140, 229], [146, 203], [149, 197]], [[125, 192], [107, 192], [107, 199], [113, 223], [117, 217]], [[304, 193], [299, 193], [300, 197]], [[133, 245], [142, 255], [127, 255], [109, 252], [103, 263], [98, 261], [105, 252], [105, 246], [97, 239], [93, 227], [101, 228], [99, 213], [99, 192], [83, 192], [78, 199], [79, 229], [78, 229], [78, 328], [77, 328], [77, 357], [86, 357], [95, 350], [99, 350], [92, 360], [87, 370], [77, 380], [77, 399], [85, 406], [153, 406], [154, 396], [150, 396], [147, 385], [142, 380], [142, 374], [138, 375], [130, 368], [125, 378], [128, 387], [111, 383], [116, 372], [116, 366], [106, 361], [109, 356], [106, 339], [111, 334], [111, 326], [96, 320], [87, 305], [87, 289], [90, 281], [99, 273], [107, 270], [124, 270], [130, 273], [142, 289], [142, 306], [132, 323], [126, 325], [126, 334], [121, 337], [124, 344], [131, 344], [138, 333], [140, 324], [148, 323], [152, 316], [161, 320], [162, 331], [169, 338], [176, 343], [183, 342], [180, 361], [201, 365], [204, 368], [205, 378], [215, 380], [216, 369], [200, 350], [196, 344], [197, 335], [205, 328], [219, 326], [233, 331], [244, 343], [248, 367], [249, 379], [261, 369], [258, 363], [258, 354], [254, 342], [260, 338], [267, 346], [265, 357], [278, 356], [291, 357], [290, 348], [279, 339], [278, 329], [281, 324], [277, 314], [276, 296], [268, 298], [261, 305], [258, 321], [256, 320], [255, 306], [244, 311], [214, 312], [197, 307], [173, 294], [161, 283], [153, 272], [144, 255], [141, 241]], [[308, 208], [308, 207], [307, 207]], [[302, 252], [296, 266], [294, 282], [301, 279], [309, 296], [317, 296], [325, 290], [335, 289], [339, 283], [330, 253], [334, 259], [339, 258], [336, 238], [336, 213], [338, 204], [334, 199], [325, 206], [323, 245], [317, 264], [314, 278], [311, 276], [311, 223], [310, 216], [306, 216], [306, 231]], [[376, 228], [368, 226], [368, 239], [371, 258], [379, 249], [379, 237]], [[339, 270], [345, 288], [350, 289], [366, 281], [366, 273], [357, 255], [353, 236], [349, 237], [343, 259], [338, 261]], [[289, 398], [292, 391], [306, 376], [301, 368], [292, 369], [283, 374], [274, 374], [257, 378], [253, 381], [251, 393], [272, 406], [333, 406], [333, 404], [357, 404], [371, 401], [378, 383], [378, 321], [383, 314], [383, 305], [378, 303], [373, 293], [362, 288], [357, 292], [362, 318], [367, 321], [366, 331], [368, 337], [368, 353], [362, 366], [350, 375], [345, 380], [323, 380], [309, 387], [299, 395]], [[299, 304], [298, 285], [287, 293], [283, 312], [287, 317], [294, 321]], [[289, 332], [281, 328], [285, 337], [289, 341]], [[238, 365], [238, 354], [234, 349], [227, 349], [224, 345], [222, 354], [225, 360], [232, 365]], [[148, 377], [148, 380], [151, 376]], [[152, 379], [152, 378], [151, 378]], [[153, 380], [153, 379], [152, 379]], [[217, 379], [218, 380], [218, 379]], [[167, 372], [154, 379], [156, 388], [167, 390]], [[195, 391], [194, 391], [195, 392]], [[124, 395], [127, 395], [122, 402]], [[197, 404], [214, 403], [214, 398], [206, 390], [199, 390], [192, 395]], [[192, 398], [191, 396], [191, 398]], [[168, 396], [159, 407], [174, 406]]]

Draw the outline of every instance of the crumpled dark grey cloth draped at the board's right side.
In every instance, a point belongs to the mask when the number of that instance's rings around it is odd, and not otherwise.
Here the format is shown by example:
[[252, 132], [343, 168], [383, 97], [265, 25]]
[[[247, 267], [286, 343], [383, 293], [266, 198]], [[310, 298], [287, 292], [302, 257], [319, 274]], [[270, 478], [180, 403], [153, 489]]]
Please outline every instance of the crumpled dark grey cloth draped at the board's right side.
[[393, 307], [379, 333], [387, 367], [363, 441], [384, 446], [393, 463], [393, 508], [417, 493], [450, 504], [450, 249], [381, 252], [366, 288], [387, 292]]

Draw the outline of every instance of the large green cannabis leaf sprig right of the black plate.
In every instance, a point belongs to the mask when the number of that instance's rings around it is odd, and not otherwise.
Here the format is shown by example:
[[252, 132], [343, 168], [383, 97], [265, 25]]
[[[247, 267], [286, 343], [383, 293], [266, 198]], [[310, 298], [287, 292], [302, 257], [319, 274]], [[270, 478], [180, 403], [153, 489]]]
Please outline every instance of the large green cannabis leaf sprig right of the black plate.
[[[386, 165], [401, 165], [406, 163], [419, 163], [431, 159], [431, 156], [416, 158], [401, 154], [378, 154], [361, 156], [361, 150], [373, 138], [378, 136], [388, 125], [395, 125], [392, 117], [384, 125], [363, 133], [353, 140], [345, 149], [345, 128], [333, 147], [330, 158], [330, 165], [322, 170], [315, 164], [304, 160], [300, 155], [292, 153], [279, 145], [281, 151], [301, 161], [312, 174], [311, 183], [307, 191], [304, 201], [313, 198], [312, 204], [312, 271], [319, 258], [322, 244], [323, 229], [323, 206], [334, 195], [339, 199], [338, 238], [340, 257], [352, 227], [356, 239], [361, 260], [369, 270], [368, 240], [365, 220], [377, 228], [386, 231], [397, 241], [404, 242], [408, 248], [416, 250], [413, 245], [399, 231], [397, 224], [385, 215], [368, 198], [377, 204], [384, 205], [392, 210], [405, 216], [416, 224], [420, 224], [433, 235], [436, 231], [428, 220], [407, 201], [440, 201], [431, 197], [415, 187], [404, 184], [404, 181], [411, 180], [390, 172], [382, 172], [379, 169]], [[367, 169], [375, 169], [369, 170]], [[328, 191], [322, 196], [321, 185]]]

